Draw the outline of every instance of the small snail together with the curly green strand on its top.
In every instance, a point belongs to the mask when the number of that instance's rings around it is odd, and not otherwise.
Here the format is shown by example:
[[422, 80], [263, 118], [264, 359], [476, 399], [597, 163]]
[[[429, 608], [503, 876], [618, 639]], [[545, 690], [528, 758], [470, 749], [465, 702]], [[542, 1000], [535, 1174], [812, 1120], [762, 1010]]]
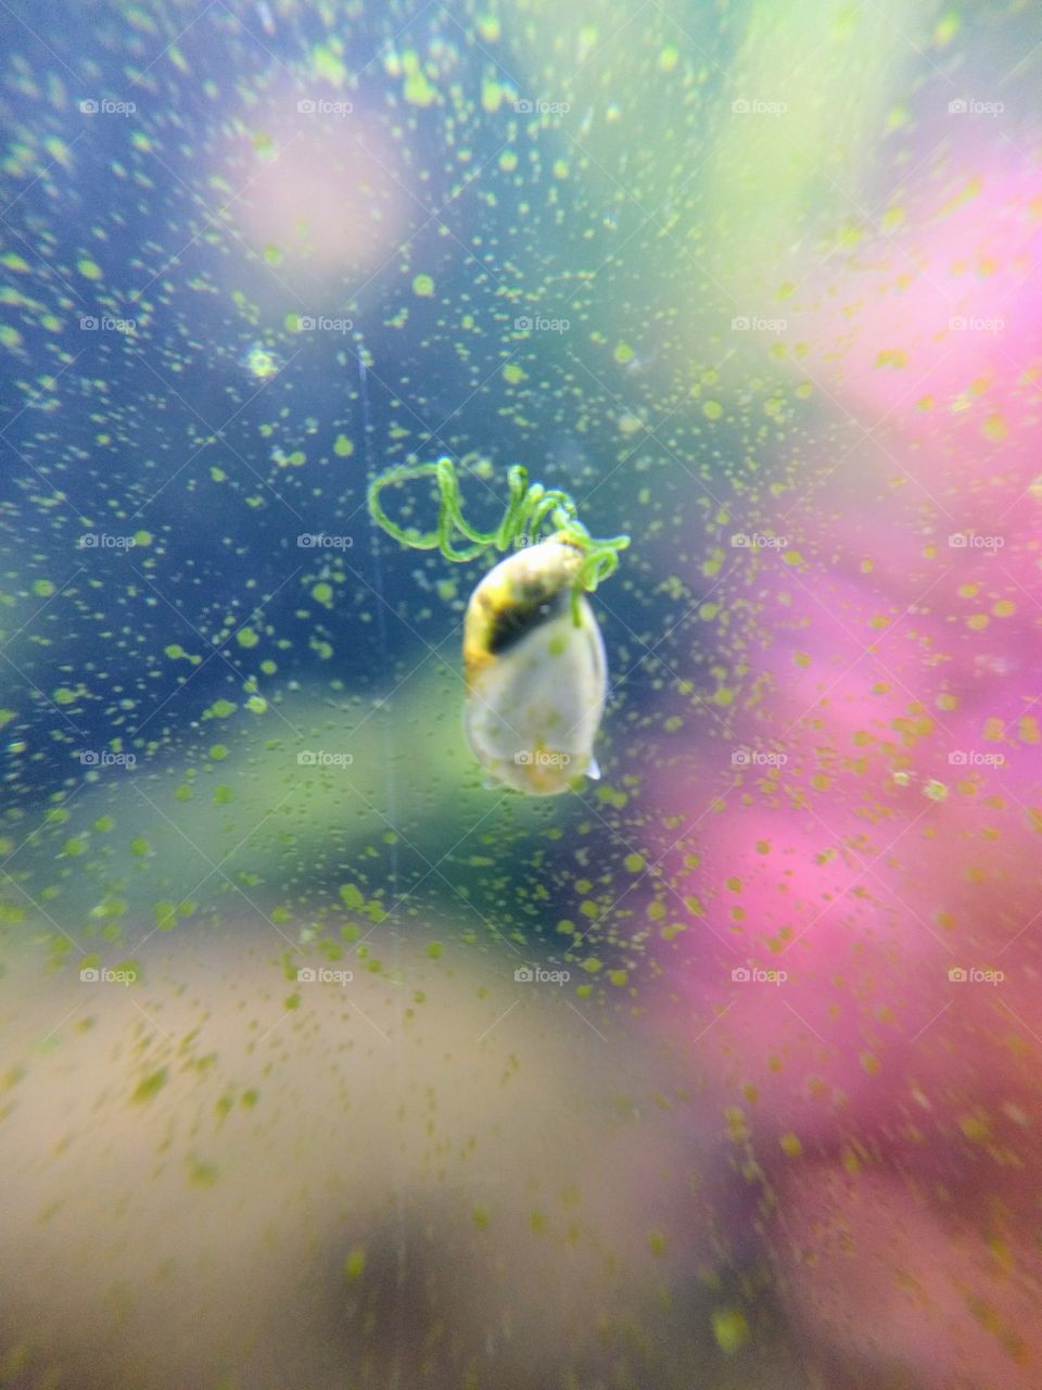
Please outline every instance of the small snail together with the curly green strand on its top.
[[[383, 512], [379, 493], [390, 482], [433, 477], [440, 492], [438, 530], [404, 530]], [[463, 624], [467, 685], [464, 731], [492, 784], [553, 796], [599, 777], [593, 741], [607, 691], [604, 644], [584, 591], [618, 564], [629, 543], [597, 541], [565, 492], [528, 485], [510, 470], [510, 502], [500, 525], [475, 531], [460, 513], [458, 482], [449, 459], [390, 468], [370, 485], [370, 512], [389, 535], [418, 549], [440, 549], [470, 560], [495, 546], [517, 548], [478, 584]], [[540, 539], [540, 530], [553, 532]], [[467, 542], [454, 543], [454, 532]]]

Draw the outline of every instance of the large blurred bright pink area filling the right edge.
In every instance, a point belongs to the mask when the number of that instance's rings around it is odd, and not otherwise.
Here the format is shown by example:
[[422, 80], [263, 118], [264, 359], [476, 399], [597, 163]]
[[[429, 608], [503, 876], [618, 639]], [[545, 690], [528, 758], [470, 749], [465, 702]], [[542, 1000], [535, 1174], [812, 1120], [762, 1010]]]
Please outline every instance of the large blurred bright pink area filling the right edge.
[[756, 694], [656, 785], [661, 1016], [873, 1386], [1042, 1384], [1042, 177], [1006, 153], [807, 275], [846, 448], [757, 518], [797, 559], [731, 559]]

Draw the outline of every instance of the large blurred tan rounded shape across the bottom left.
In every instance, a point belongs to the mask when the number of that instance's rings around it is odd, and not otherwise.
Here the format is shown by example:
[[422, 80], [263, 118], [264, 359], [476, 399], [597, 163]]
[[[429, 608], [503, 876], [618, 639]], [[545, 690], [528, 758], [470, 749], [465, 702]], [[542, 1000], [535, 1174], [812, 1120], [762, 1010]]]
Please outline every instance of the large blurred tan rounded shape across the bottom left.
[[3, 981], [6, 1384], [665, 1386], [703, 1358], [663, 1291], [692, 1165], [557, 987], [418, 952], [296, 986], [178, 945], [132, 987]]

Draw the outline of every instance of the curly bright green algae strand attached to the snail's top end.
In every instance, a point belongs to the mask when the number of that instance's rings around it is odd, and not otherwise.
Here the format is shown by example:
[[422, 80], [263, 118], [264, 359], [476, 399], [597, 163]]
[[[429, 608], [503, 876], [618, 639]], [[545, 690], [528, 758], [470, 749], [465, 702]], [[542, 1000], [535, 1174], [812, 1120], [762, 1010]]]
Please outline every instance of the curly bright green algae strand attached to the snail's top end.
[[[433, 478], [438, 484], [440, 502], [435, 531], [400, 527], [390, 520], [381, 505], [379, 495], [383, 488], [390, 484], [411, 482], [415, 478]], [[557, 488], [545, 488], [542, 482], [529, 484], [528, 471], [520, 463], [515, 463], [507, 473], [507, 485], [510, 500], [503, 520], [495, 531], [478, 531], [464, 520], [460, 510], [460, 480], [456, 477], [456, 466], [452, 459], [442, 457], [436, 463], [402, 464], [388, 468], [370, 484], [370, 514], [377, 525], [402, 545], [411, 546], [414, 550], [440, 550], [446, 560], [472, 560], [490, 546], [497, 550], [508, 550], [511, 546], [535, 545], [539, 539], [559, 535], [582, 550], [582, 564], [575, 578], [577, 589], [592, 592], [602, 580], [615, 571], [618, 552], [629, 545], [628, 535], [596, 539], [579, 521], [575, 503], [568, 493]], [[546, 535], [540, 535], [543, 528], [546, 528]], [[457, 546], [454, 543], [457, 532], [470, 543]]]

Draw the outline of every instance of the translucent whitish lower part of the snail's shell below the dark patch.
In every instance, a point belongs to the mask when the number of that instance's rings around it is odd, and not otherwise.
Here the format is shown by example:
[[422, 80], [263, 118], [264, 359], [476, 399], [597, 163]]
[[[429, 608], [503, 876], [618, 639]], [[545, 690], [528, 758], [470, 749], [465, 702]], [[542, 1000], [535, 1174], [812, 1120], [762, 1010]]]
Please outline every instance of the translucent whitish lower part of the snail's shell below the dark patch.
[[[503, 560], [482, 582], [502, 584], [497, 570], [515, 559]], [[593, 739], [607, 692], [604, 642], [586, 599], [578, 599], [577, 624], [571, 592], [565, 595], [559, 612], [490, 657], [464, 712], [467, 741], [492, 777], [536, 796], [568, 791], [582, 773], [597, 774]]]

